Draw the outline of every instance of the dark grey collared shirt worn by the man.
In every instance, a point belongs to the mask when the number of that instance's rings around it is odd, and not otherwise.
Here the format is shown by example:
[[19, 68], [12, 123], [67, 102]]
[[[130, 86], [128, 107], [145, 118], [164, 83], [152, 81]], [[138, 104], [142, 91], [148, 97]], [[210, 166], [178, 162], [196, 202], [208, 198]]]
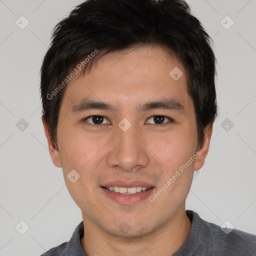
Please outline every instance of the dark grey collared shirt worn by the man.
[[[183, 246], [172, 256], [256, 256], [256, 235], [233, 229], [226, 234], [220, 226], [209, 223], [186, 210], [192, 221], [191, 231]], [[80, 239], [83, 222], [75, 228], [69, 242], [51, 248], [40, 256], [87, 256]]]

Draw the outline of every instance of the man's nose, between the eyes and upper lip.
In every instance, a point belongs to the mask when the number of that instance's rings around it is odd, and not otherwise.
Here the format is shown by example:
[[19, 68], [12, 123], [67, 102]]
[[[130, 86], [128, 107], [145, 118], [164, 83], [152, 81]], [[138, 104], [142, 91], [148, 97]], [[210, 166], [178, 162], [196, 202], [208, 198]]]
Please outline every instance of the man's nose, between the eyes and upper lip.
[[132, 171], [145, 167], [149, 163], [149, 149], [146, 146], [146, 137], [143, 131], [132, 124], [123, 131], [116, 127], [117, 134], [112, 138], [107, 153], [107, 164], [110, 167]]

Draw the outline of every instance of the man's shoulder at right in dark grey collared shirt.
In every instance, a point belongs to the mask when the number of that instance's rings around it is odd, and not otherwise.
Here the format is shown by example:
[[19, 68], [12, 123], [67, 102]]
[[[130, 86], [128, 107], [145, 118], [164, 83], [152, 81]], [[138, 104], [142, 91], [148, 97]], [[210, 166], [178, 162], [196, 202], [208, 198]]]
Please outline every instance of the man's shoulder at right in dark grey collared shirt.
[[256, 235], [220, 227], [192, 210], [186, 210], [186, 214], [192, 222], [191, 230], [175, 256], [256, 256]]

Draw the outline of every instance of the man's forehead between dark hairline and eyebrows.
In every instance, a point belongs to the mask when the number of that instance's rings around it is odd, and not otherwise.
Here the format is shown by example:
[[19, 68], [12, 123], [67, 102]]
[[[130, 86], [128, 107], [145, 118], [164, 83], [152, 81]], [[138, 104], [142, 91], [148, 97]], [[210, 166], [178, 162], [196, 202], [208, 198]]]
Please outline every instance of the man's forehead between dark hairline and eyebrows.
[[141, 100], [162, 96], [189, 100], [184, 67], [161, 46], [140, 46], [97, 59], [84, 76], [78, 73], [69, 81], [63, 101], [69, 108], [85, 97], [137, 107]]

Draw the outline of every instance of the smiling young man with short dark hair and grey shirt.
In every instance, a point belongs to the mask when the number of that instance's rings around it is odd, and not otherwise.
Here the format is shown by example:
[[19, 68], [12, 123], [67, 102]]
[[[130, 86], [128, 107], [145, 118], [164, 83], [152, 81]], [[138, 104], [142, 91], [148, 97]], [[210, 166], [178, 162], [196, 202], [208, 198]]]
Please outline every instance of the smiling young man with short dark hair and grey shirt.
[[43, 255], [256, 255], [255, 235], [185, 210], [214, 77], [210, 38], [181, 0], [87, 0], [56, 25], [42, 121], [83, 221]]

